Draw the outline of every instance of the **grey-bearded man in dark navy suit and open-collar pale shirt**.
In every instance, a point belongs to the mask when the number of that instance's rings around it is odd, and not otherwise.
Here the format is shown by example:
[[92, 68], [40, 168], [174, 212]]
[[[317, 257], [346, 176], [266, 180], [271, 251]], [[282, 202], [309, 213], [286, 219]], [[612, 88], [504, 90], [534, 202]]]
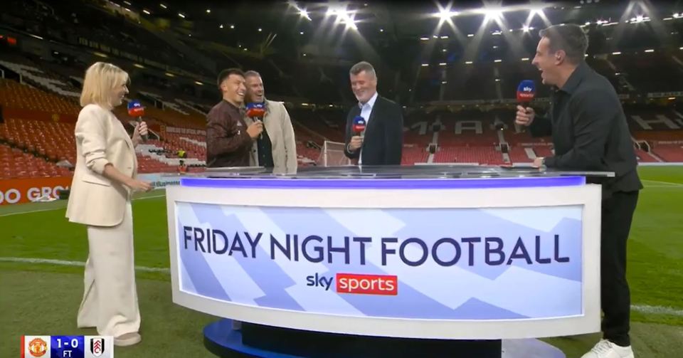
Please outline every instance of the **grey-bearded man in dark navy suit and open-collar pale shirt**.
[[[377, 93], [377, 74], [370, 63], [356, 63], [349, 71], [351, 90], [358, 100], [346, 116], [344, 154], [364, 165], [400, 165], [403, 150], [401, 106]], [[354, 119], [363, 117], [366, 129], [354, 132]]]

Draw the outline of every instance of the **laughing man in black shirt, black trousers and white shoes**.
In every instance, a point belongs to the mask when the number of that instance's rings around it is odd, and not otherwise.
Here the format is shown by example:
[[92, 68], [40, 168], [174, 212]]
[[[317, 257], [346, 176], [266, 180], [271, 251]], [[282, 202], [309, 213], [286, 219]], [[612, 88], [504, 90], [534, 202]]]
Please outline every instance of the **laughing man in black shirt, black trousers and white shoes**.
[[633, 358], [626, 241], [642, 184], [626, 117], [610, 82], [586, 64], [588, 38], [580, 26], [551, 26], [540, 36], [532, 63], [543, 83], [554, 87], [551, 107], [544, 118], [518, 106], [516, 122], [534, 137], [552, 135], [555, 155], [536, 158], [534, 166], [615, 173], [600, 180], [603, 339], [583, 358]]

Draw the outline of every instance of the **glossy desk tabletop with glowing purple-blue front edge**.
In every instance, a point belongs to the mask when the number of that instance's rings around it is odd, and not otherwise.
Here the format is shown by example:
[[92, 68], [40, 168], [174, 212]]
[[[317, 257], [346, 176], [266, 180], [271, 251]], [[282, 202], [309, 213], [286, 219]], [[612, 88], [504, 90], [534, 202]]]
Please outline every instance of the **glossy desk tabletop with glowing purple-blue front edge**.
[[309, 167], [280, 174], [263, 167], [210, 168], [181, 177], [181, 186], [252, 189], [489, 189], [578, 186], [611, 172], [531, 167], [416, 165]]

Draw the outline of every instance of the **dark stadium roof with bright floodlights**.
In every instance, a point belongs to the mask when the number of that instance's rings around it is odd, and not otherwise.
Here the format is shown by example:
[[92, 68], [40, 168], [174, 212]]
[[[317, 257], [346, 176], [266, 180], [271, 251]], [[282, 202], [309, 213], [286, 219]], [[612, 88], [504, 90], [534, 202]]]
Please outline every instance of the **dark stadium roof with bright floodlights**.
[[[528, 56], [539, 29], [551, 24], [584, 26], [592, 53], [676, 45], [683, 28], [681, 0], [114, 2], [171, 21], [188, 41], [216, 41], [263, 56], [382, 58], [393, 60], [394, 68], [406, 61]], [[648, 36], [633, 36], [638, 31]], [[414, 46], [424, 48], [415, 53]]]

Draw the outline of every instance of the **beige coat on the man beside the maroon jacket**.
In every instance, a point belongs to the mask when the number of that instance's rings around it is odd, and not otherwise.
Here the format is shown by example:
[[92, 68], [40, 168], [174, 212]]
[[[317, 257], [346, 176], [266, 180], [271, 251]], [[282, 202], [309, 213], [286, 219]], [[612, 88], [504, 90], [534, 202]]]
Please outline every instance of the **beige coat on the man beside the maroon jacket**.
[[[297, 142], [290, 114], [284, 103], [265, 100], [266, 112], [263, 125], [272, 143], [272, 162], [275, 164], [273, 172], [277, 174], [295, 174], [297, 172]], [[247, 125], [253, 120], [245, 117]], [[258, 167], [258, 145], [254, 141], [249, 164]]]

